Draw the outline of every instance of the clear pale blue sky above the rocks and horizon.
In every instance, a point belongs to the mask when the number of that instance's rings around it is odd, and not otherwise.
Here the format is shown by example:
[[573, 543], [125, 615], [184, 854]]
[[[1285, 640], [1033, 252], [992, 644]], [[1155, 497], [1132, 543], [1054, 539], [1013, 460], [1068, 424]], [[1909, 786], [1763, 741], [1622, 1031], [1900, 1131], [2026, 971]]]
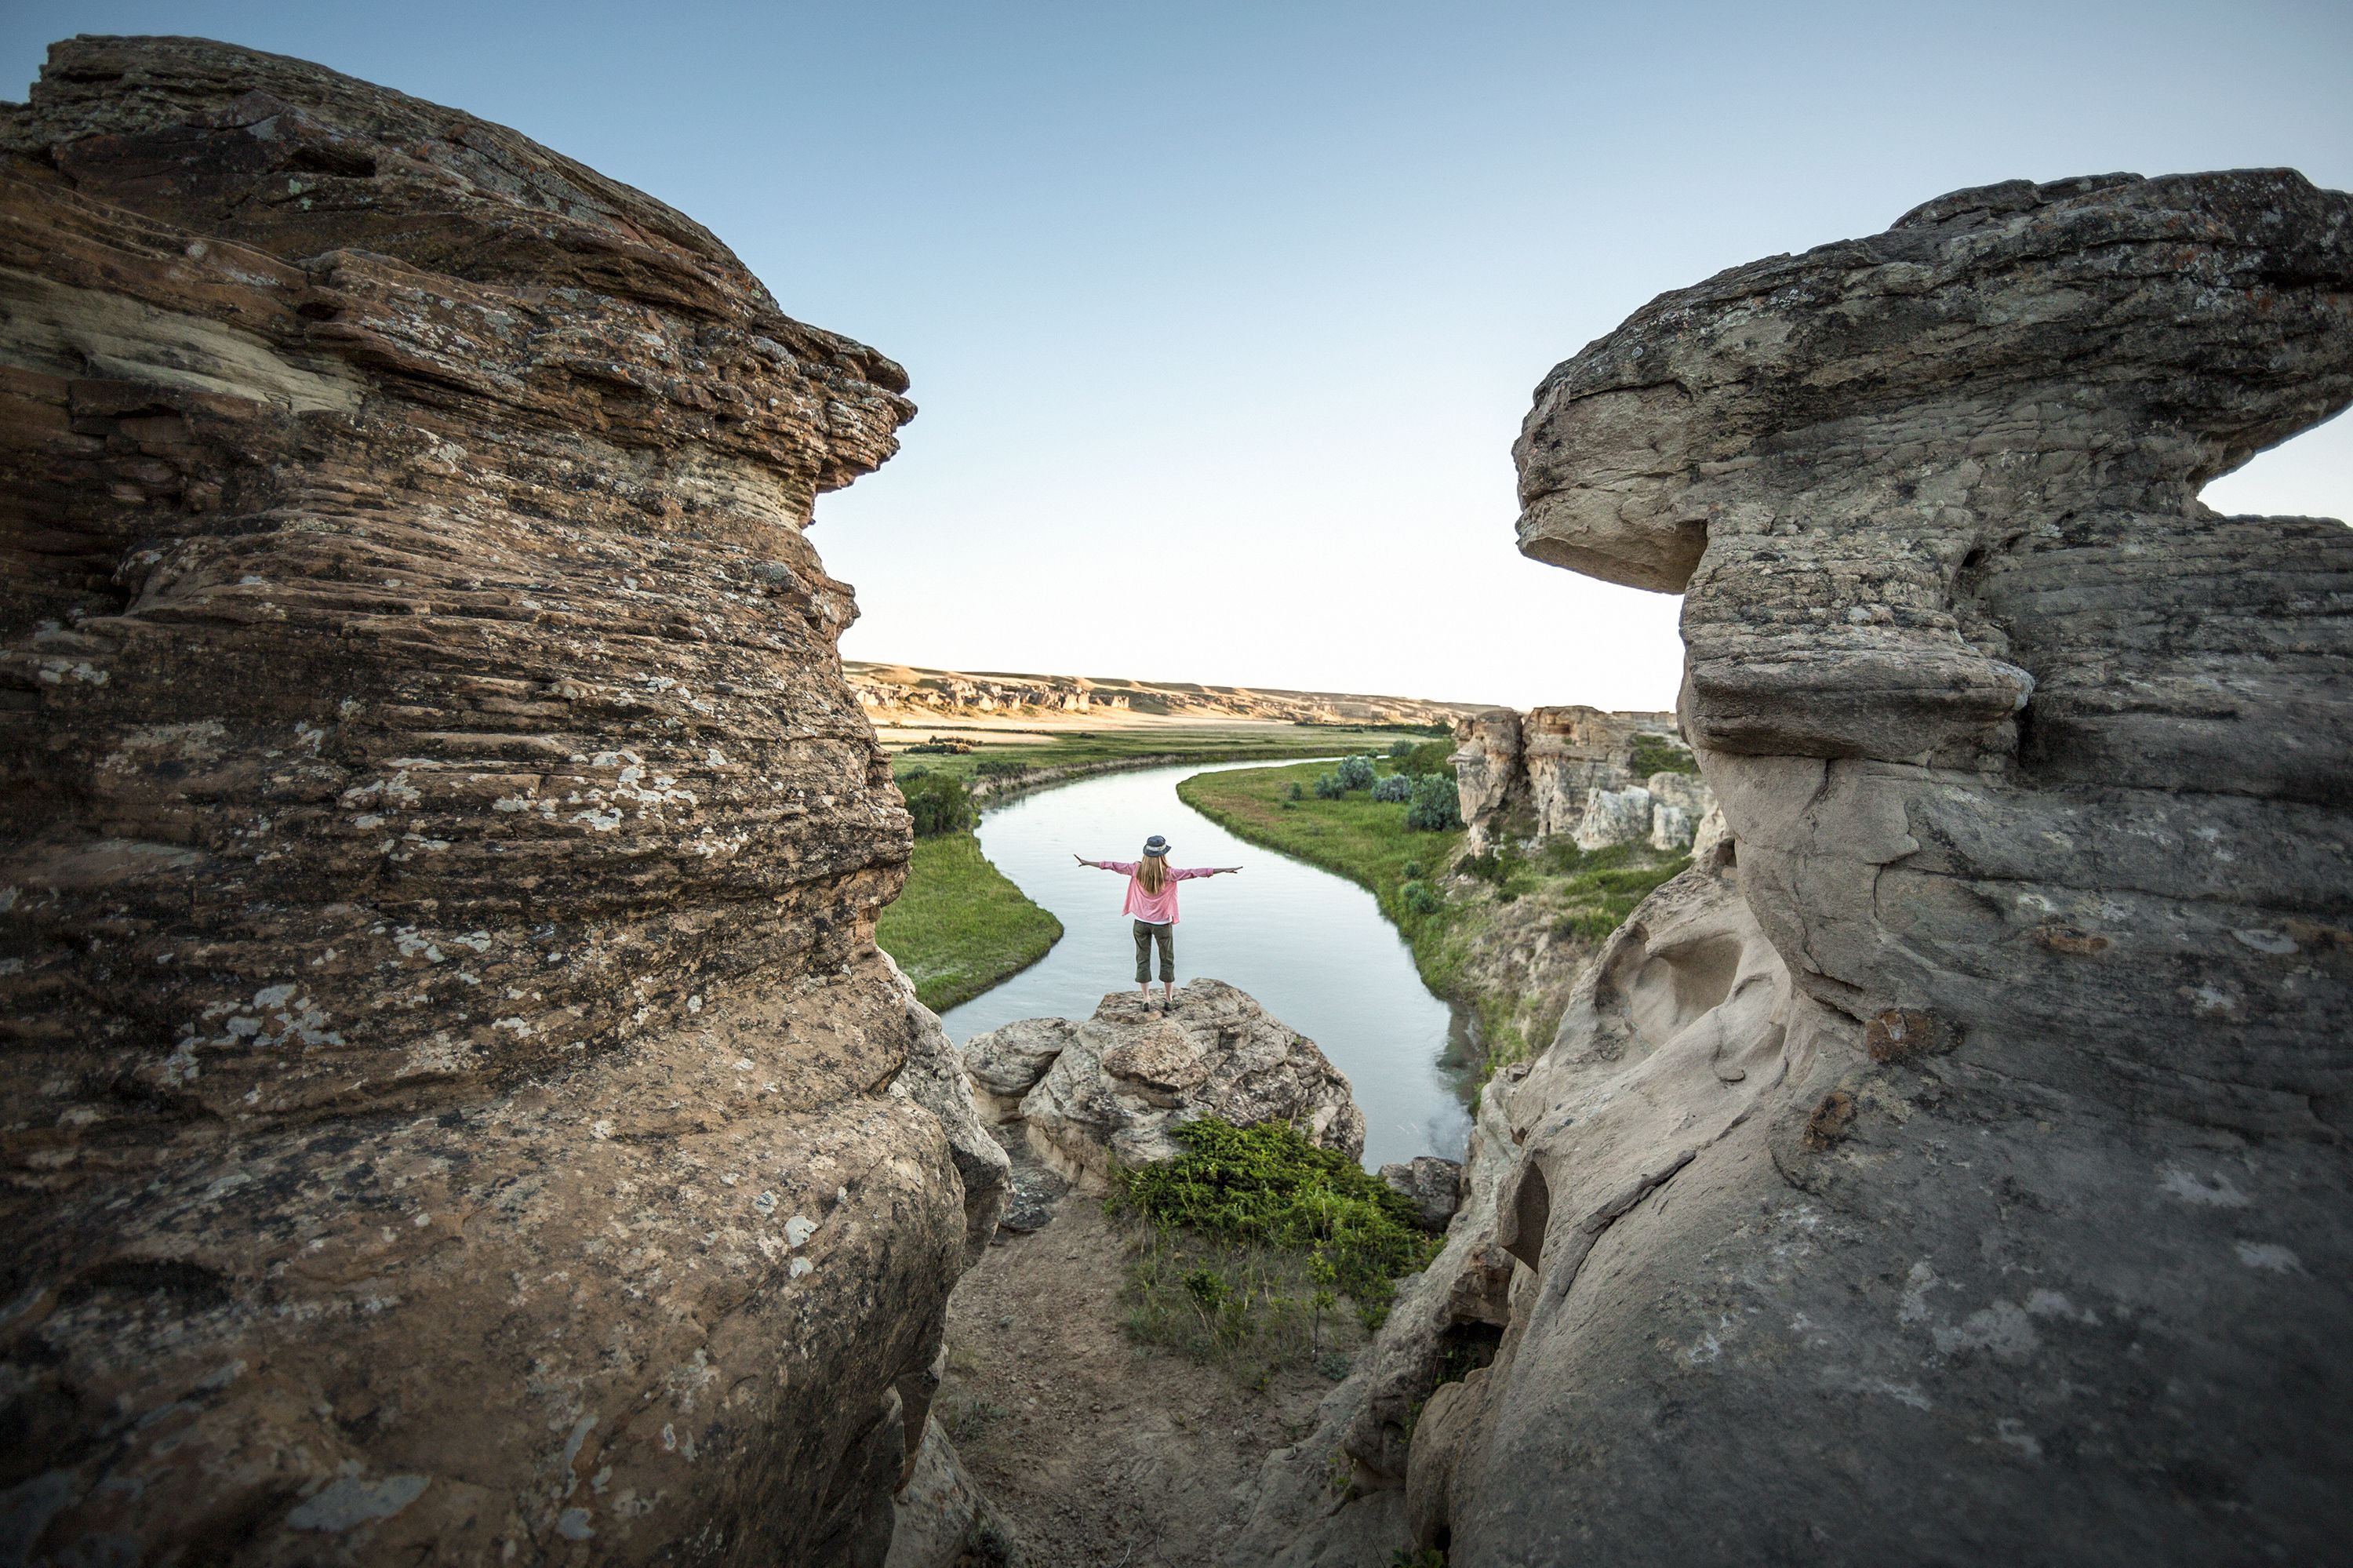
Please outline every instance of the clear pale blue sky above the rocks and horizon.
[[[214, 5], [689, 212], [920, 419], [819, 504], [866, 659], [1666, 706], [1675, 600], [1522, 560], [1529, 388], [1941, 191], [2353, 186], [2353, 5]], [[2209, 492], [2353, 513], [2353, 419]], [[1151, 600], [1174, 603], [1174, 619]], [[1160, 619], [1162, 624], [1155, 624]]]

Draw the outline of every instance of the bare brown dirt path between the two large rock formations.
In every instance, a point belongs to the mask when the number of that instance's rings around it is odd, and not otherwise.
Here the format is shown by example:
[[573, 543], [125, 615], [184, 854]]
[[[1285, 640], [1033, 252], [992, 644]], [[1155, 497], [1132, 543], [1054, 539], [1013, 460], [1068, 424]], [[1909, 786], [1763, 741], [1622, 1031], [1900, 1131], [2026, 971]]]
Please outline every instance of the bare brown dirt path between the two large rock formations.
[[1264, 1394], [1127, 1337], [1120, 1236], [1068, 1196], [955, 1285], [941, 1420], [1031, 1568], [1212, 1566], [1249, 1516], [1259, 1460], [1313, 1427], [1311, 1370]]

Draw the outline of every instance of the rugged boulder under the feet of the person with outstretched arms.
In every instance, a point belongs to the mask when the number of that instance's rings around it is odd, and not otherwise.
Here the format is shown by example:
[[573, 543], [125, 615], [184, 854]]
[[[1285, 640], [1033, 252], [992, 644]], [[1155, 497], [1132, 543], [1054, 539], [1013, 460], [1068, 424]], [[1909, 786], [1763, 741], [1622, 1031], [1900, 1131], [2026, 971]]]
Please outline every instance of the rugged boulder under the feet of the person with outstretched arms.
[[1113, 991], [1082, 1022], [991, 1029], [965, 1043], [965, 1069], [1000, 1137], [1087, 1189], [1113, 1158], [1176, 1158], [1169, 1128], [1202, 1116], [1287, 1121], [1348, 1158], [1365, 1151], [1365, 1114], [1315, 1041], [1221, 979], [1176, 986], [1167, 1012]]

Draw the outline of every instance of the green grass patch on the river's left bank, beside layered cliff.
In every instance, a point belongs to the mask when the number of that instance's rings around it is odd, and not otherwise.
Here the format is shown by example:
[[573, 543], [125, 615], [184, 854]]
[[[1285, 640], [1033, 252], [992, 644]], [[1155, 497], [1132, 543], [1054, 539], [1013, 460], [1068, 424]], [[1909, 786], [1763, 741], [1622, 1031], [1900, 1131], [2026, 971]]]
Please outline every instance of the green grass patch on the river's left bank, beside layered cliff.
[[991, 866], [972, 833], [918, 838], [906, 890], [875, 923], [875, 944], [934, 1012], [1026, 970], [1056, 942], [1061, 921]]

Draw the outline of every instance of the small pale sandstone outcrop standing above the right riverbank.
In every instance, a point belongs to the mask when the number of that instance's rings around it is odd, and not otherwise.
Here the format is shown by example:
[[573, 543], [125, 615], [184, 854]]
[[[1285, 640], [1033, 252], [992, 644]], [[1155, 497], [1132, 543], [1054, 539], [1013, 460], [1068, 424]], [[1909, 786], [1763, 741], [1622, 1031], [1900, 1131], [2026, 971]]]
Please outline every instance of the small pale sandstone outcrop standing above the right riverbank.
[[1454, 784], [1471, 852], [1511, 838], [1569, 838], [1579, 850], [1689, 845], [1715, 798], [1697, 775], [1638, 772], [1640, 737], [1682, 746], [1673, 713], [1494, 709], [1457, 720]]

